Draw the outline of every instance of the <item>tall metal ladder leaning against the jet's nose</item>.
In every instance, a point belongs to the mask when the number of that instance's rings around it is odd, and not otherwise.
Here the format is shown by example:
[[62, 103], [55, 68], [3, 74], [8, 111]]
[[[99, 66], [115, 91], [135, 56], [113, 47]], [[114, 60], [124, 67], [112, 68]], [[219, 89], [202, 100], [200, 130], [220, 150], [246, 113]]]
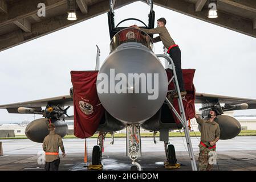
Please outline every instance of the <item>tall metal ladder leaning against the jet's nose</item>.
[[[176, 115], [178, 120], [182, 123], [184, 133], [185, 133], [185, 138], [186, 138], [186, 144], [188, 146], [188, 152], [189, 152], [189, 158], [190, 158], [192, 170], [197, 171], [196, 160], [194, 159], [194, 152], [193, 152], [193, 148], [192, 148], [192, 142], [191, 142], [190, 135], [189, 135], [188, 123], [186, 121], [186, 115], [185, 115], [185, 110], [184, 110], [182, 97], [181, 97], [181, 93], [180, 93], [180, 87], [178, 85], [178, 78], [177, 78], [177, 75], [176, 75], [175, 65], [173, 63], [173, 60], [170, 58], [170, 56], [166, 55], [166, 49], [165, 49], [164, 52], [165, 52], [165, 54], [159, 54], [159, 55], [156, 55], [156, 56], [157, 57], [163, 57], [164, 59], [166, 59], [168, 61], [168, 64], [169, 64], [168, 67], [170, 67], [173, 71], [173, 76], [172, 76], [172, 78], [170, 78], [170, 80], [168, 82], [168, 85], [172, 81], [174, 82], [174, 88], [175, 88], [176, 92], [178, 93], [178, 107], [180, 108], [180, 114], [178, 114], [178, 111], [174, 108], [174, 106], [168, 100], [167, 97], [165, 98], [165, 101], [170, 106], [170, 108], [172, 109], [173, 113]], [[170, 91], [170, 90], [168, 90], [168, 91]]]

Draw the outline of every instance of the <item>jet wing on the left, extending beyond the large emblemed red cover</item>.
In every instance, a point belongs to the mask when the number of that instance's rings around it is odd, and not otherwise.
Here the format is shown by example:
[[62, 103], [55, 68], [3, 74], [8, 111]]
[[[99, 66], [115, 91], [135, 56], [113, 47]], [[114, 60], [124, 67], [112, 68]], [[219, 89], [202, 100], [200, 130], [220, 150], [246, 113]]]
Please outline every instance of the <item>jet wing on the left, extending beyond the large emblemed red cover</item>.
[[7, 109], [9, 113], [18, 113], [19, 107], [29, 107], [33, 109], [41, 110], [46, 105], [61, 105], [61, 106], [72, 106], [73, 100], [70, 95], [44, 98], [41, 100], [17, 102], [14, 104], [0, 105], [0, 109]]

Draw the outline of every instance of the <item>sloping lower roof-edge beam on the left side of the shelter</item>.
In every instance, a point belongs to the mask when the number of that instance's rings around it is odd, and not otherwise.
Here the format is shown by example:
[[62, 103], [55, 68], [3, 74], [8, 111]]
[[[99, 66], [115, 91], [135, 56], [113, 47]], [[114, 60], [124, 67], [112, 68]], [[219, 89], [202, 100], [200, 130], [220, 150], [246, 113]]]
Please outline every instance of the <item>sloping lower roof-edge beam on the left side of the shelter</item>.
[[[116, 3], [115, 9], [119, 9], [120, 7], [128, 5], [132, 2], [135, 2], [135, 0], [119, 0]], [[28, 42], [29, 40], [33, 40], [35, 38], [39, 38], [40, 36], [50, 34], [51, 32], [61, 30], [62, 28], [72, 26], [73, 24], [83, 22], [84, 20], [94, 18], [97, 15], [107, 13], [109, 10], [109, 3], [108, 1], [101, 1], [94, 5], [88, 6], [88, 9], [90, 9], [88, 14], [83, 14], [80, 11], [77, 12], [76, 14], [78, 19], [75, 21], [67, 20], [67, 14], [65, 13], [63, 15], [54, 16], [50, 19], [45, 19], [41, 22], [32, 24], [31, 32], [14, 31], [11, 34], [8, 33], [5, 35], [0, 35], [0, 51], [18, 46], [19, 44]], [[29, 14], [31, 16], [31, 13]]]

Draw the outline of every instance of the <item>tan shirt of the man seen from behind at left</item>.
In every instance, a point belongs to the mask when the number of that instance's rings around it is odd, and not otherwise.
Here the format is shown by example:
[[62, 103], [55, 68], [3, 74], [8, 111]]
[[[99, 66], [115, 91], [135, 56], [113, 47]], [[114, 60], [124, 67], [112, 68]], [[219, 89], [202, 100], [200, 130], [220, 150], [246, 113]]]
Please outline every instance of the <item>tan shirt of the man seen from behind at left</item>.
[[[55, 134], [55, 131], [50, 131], [44, 140], [43, 140], [43, 151], [44, 152], [59, 152], [59, 147], [62, 152], [65, 152], [62, 137]], [[46, 155], [46, 162], [52, 162], [56, 159], [59, 159], [59, 155]]]

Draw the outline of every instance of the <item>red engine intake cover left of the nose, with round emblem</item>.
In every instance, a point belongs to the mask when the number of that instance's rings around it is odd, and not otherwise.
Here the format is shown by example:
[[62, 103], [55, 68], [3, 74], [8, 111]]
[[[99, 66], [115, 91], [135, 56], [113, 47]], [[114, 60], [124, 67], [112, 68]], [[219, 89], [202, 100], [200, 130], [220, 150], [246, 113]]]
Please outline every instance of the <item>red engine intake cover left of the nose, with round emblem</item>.
[[96, 90], [98, 71], [71, 71], [74, 89], [74, 134], [78, 138], [94, 135], [99, 127], [104, 108]]

